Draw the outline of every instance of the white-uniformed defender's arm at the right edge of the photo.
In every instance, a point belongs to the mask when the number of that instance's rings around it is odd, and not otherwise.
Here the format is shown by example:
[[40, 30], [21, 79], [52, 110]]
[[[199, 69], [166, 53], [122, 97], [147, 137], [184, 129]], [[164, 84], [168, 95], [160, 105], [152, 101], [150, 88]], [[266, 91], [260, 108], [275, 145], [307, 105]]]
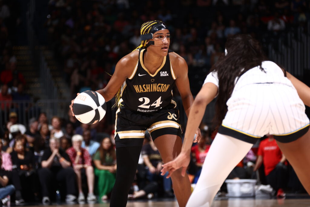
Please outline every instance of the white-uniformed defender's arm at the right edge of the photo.
[[286, 77], [293, 83], [304, 105], [310, 107], [310, 88], [287, 71]]

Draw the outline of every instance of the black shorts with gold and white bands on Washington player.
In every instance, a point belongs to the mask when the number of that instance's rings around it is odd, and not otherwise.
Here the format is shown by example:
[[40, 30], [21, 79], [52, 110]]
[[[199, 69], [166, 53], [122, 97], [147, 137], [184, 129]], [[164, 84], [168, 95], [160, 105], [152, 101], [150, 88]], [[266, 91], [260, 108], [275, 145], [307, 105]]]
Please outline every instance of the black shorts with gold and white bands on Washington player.
[[115, 118], [116, 147], [142, 146], [146, 130], [153, 141], [165, 134], [181, 137], [179, 110], [175, 107], [176, 105], [171, 103], [154, 113], [147, 114], [131, 110], [122, 102]]

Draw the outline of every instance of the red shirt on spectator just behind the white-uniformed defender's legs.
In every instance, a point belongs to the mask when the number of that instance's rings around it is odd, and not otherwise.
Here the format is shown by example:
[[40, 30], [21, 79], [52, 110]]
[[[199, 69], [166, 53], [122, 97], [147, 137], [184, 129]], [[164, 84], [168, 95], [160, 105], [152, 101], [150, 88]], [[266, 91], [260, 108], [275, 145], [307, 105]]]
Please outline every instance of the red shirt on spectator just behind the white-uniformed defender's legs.
[[282, 159], [282, 152], [277, 145], [276, 140], [269, 141], [264, 139], [259, 143], [257, 155], [263, 156], [263, 164], [265, 167], [265, 175], [268, 175]]

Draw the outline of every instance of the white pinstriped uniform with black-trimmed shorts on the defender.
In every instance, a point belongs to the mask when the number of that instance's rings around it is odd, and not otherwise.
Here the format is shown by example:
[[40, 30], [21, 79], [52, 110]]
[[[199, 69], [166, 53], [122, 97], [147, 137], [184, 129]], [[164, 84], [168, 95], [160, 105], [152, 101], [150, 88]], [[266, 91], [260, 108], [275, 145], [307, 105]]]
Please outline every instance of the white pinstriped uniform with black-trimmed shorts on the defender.
[[[262, 68], [236, 79], [219, 133], [253, 144], [266, 134], [280, 142], [294, 141], [309, 128], [303, 101], [277, 64], [264, 61]], [[216, 72], [208, 74], [205, 83], [209, 82], [219, 87]]]

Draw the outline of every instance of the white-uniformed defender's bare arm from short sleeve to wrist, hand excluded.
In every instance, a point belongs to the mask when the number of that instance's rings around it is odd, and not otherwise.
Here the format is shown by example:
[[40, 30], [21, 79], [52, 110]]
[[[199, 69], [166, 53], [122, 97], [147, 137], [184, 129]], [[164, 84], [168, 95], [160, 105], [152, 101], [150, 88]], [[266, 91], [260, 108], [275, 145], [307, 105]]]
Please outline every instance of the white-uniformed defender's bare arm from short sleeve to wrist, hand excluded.
[[214, 83], [205, 83], [197, 94], [189, 112], [181, 153], [189, 155], [192, 146], [191, 137], [194, 137], [205, 114], [206, 106], [215, 98], [217, 92], [218, 88]]

